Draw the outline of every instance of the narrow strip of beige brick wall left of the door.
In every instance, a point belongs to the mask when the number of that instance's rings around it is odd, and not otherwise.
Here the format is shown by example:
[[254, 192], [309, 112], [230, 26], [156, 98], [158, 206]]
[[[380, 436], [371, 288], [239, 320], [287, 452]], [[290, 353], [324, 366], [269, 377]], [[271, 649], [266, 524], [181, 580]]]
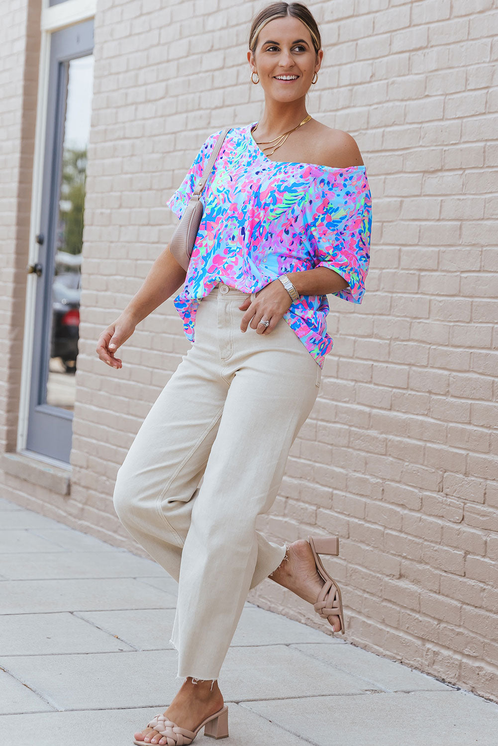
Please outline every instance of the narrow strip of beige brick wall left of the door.
[[37, 104], [40, 0], [0, 23], [0, 452], [16, 448]]

